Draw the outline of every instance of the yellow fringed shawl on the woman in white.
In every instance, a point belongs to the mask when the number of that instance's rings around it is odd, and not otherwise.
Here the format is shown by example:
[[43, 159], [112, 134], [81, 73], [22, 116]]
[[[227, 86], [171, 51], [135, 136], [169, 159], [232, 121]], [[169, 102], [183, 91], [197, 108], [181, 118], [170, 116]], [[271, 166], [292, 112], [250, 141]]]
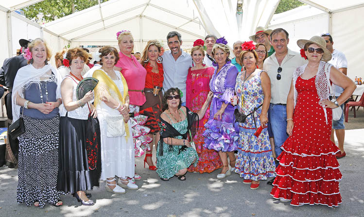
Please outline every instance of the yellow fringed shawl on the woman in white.
[[[128, 94], [128, 84], [126, 83], [124, 76], [122, 76], [121, 73], [120, 73], [120, 75], [121, 75], [121, 82], [124, 87], [123, 96], [121, 96], [120, 90], [119, 90], [118, 86], [115, 84], [115, 82], [113, 80], [111, 80], [110, 77], [108, 75], [106, 75], [106, 73], [103, 70], [98, 69], [98, 70], [94, 71], [94, 73], [92, 74], [92, 77], [99, 80], [99, 83], [97, 83], [97, 85], [94, 89], [95, 107], [97, 107], [97, 105], [100, 103], [101, 98], [102, 98], [103, 94], [105, 94], [105, 93], [109, 94], [114, 99], [118, 98], [122, 104], [125, 103], [125, 99], [129, 95]], [[126, 141], [128, 141], [128, 137], [129, 137], [128, 123], [125, 123], [125, 134], [126, 134], [125, 139], [126, 139]]]

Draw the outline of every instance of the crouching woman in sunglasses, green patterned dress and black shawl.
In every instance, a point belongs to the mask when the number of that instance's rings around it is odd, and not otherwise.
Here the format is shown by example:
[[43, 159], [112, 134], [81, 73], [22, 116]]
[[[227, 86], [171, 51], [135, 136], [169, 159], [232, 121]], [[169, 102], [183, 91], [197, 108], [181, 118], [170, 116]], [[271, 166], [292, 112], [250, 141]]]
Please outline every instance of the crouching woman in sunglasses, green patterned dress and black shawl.
[[205, 116], [208, 105], [212, 99], [212, 92], [198, 113], [191, 112], [187, 107], [181, 106], [181, 94], [178, 88], [170, 88], [164, 93], [160, 115], [160, 140], [157, 146], [157, 170], [163, 181], [177, 176], [179, 180], [186, 180], [187, 168], [191, 164], [197, 165], [198, 155], [190, 140], [198, 128], [198, 120]]

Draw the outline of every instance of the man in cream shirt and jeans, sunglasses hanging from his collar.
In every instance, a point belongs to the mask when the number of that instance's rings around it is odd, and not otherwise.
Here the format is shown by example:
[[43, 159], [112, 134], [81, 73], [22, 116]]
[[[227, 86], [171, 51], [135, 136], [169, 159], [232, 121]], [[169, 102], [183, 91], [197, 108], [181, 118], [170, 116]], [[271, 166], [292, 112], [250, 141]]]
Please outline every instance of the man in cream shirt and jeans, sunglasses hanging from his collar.
[[[264, 60], [263, 70], [268, 73], [271, 80], [271, 104], [268, 114], [274, 136], [274, 149], [276, 156], [279, 156], [282, 152], [280, 147], [288, 138], [286, 104], [293, 73], [296, 67], [305, 65], [307, 61], [298, 52], [288, 49], [289, 38], [286, 30], [282, 28], [273, 30], [270, 40], [276, 52]], [[273, 181], [274, 179], [267, 184], [273, 184]]]

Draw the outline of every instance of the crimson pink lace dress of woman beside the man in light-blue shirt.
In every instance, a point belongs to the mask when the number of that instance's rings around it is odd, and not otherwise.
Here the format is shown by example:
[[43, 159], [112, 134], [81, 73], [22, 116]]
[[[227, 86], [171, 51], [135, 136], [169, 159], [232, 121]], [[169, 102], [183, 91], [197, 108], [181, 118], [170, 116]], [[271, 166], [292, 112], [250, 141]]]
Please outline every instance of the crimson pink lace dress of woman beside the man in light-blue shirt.
[[[196, 70], [191, 70], [191, 68], [189, 68], [186, 82], [186, 84], [188, 84], [186, 91], [186, 106], [191, 109], [192, 112], [197, 113], [205, 103], [208, 92], [210, 91], [209, 82], [214, 70], [213, 67]], [[223, 166], [220, 161], [219, 153], [204, 147], [205, 137], [202, 134], [205, 131], [204, 125], [208, 121], [209, 114], [210, 110], [208, 109], [205, 116], [199, 120], [198, 129], [193, 138], [199, 159], [196, 167], [191, 165], [188, 168], [189, 172], [212, 172]]]

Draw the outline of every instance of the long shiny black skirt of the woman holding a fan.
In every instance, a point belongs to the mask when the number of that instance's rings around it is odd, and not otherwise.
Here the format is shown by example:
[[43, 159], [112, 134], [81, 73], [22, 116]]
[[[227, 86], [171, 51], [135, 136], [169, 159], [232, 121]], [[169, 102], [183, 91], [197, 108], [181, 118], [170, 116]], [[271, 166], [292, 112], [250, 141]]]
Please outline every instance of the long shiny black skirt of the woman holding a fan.
[[99, 186], [101, 167], [90, 169], [88, 166], [87, 120], [66, 116], [60, 118], [59, 125], [57, 190], [75, 193]]

